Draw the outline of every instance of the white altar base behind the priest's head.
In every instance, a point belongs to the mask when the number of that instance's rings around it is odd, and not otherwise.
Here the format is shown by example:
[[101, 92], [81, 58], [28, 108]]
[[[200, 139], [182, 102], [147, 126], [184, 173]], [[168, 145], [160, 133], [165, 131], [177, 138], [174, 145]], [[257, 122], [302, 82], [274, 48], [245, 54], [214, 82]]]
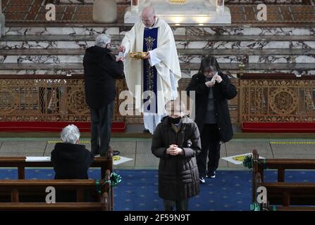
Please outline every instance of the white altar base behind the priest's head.
[[146, 6], [152, 6], [159, 18], [171, 24], [231, 23], [230, 9], [224, 6], [224, 0], [131, 0], [124, 23], [139, 22]]

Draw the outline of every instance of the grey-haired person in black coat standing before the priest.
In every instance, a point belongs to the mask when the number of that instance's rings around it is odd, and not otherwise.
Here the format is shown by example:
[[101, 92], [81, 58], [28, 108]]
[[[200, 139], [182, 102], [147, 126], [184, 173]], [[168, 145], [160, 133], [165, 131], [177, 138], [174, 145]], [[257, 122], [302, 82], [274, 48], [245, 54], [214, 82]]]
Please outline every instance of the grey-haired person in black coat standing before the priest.
[[[113, 56], [111, 37], [100, 34], [85, 51], [85, 101], [91, 115], [91, 151], [106, 156], [110, 149], [111, 122], [116, 98], [116, 79], [123, 79], [123, 60]], [[116, 155], [115, 151], [113, 155]]]

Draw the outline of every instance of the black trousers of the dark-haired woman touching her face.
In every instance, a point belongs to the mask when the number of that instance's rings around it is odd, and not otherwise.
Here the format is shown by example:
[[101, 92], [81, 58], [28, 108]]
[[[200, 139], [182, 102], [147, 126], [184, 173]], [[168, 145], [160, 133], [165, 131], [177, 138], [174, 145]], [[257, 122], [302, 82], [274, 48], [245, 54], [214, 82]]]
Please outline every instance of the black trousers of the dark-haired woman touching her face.
[[220, 160], [221, 138], [217, 124], [204, 124], [202, 129], [202, 151], [197, 155], [199, 176], [206, 176], [206, 156], [208, 155], [208, 173], [211, 174], [218, 169]]

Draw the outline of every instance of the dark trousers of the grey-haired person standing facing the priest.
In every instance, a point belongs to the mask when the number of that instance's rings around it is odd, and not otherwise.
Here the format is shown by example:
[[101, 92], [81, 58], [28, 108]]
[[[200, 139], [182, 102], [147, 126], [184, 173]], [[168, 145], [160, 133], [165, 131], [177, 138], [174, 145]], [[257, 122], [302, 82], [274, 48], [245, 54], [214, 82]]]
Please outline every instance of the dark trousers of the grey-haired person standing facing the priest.
[[111, 141], [111, 124], [113, 121], [113, 105], [109, 103], [103, 108], [90, 109], [91, 115], [91, 151], [106, 156]]

